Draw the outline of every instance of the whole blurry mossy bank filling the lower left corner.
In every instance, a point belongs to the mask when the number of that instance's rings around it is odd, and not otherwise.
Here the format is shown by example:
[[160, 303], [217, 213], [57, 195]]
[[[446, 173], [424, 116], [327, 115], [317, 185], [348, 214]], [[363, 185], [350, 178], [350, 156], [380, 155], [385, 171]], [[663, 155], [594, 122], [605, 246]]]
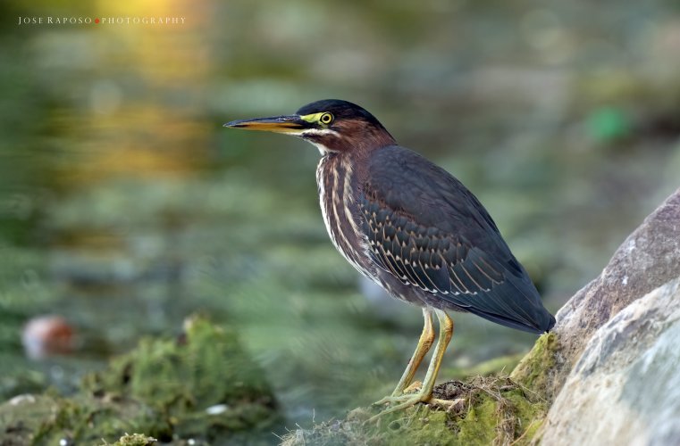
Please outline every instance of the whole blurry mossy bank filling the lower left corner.
[[161, 442], [271, 442], [281, 416], [236, 334], [204, 318], [185, 328], [179, 340], [143, 340], [70, 398], [46, 392], [0, 406], [0, 432], [14, 441], [6, 444], [88, 444], [130, 432]]

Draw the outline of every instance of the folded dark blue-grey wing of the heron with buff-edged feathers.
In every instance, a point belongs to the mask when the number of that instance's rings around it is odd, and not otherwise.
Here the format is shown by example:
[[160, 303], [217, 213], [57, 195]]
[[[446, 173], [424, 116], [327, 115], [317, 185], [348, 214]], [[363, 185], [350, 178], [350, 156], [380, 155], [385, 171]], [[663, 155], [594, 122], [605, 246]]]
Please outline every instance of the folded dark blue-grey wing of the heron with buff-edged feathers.
[[399, 146], [375, 153], [366, 178], [360, 227], [379, 268], [444, 306], [533, 333], [551, 328], [525, 269], [456, 178]]

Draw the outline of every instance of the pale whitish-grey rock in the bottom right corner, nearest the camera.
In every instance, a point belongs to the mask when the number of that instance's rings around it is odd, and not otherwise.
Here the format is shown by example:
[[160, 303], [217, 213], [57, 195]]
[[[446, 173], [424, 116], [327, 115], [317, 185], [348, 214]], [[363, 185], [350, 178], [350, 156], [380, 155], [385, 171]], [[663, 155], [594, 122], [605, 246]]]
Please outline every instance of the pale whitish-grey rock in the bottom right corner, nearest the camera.
[[680, 278], [601, 326], [550, 408], [544, 444], [680, 443]]

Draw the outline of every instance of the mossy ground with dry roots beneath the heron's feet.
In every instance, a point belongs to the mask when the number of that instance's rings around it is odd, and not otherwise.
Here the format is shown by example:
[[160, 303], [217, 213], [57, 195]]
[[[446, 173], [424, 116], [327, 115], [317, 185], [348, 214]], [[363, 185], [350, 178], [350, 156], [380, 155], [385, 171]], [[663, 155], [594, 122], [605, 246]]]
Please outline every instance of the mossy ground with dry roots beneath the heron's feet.
[[466, 383], [438, 385], [434, 396], [458, 401], [441, 409], [418, 404], [367, 421], [380, 409], [355, 409], [344, 420], [297, 430], [283, 438], [285, 446], [317, 444], [528, 444], [547, 406], [535, 393], [508, 376], [476, 376]]

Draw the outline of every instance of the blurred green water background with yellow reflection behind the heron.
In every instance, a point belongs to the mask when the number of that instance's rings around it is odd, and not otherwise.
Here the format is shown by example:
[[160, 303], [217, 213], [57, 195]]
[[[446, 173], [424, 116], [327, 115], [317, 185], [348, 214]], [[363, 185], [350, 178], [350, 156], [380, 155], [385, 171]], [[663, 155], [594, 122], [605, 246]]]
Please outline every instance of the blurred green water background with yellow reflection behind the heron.
[[[222, 128], [363, 105], [479, 196], [550, 310], [680, 186], [680, 6], [641, 2], [0, 4], [0, 394], [80, 376], [192, 312], [239, 329], [290, 425], [383, 396], [420, 311], [335, 252], [311, 145]], [[20, 17], [184, 24], [18, 24]], [[26, 359], [60, 314], [73, 354]], [[446, 367], [535, 339], [457, 316]], [[441, 379], [447, 377], [446, 369]]]

